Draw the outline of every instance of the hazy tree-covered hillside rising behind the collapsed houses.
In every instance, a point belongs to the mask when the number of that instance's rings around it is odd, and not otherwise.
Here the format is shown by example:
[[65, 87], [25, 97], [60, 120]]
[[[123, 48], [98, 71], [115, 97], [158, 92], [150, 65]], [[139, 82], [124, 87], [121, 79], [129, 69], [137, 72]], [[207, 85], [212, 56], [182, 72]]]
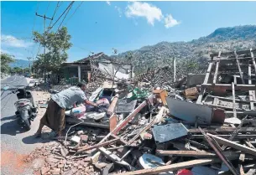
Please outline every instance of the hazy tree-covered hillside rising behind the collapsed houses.
[[[209, 54], [222, 51], [250, 49], [256, 47], [256, 25], [217, 28], [213, 33], [190, 42], [160, 42], [152, 46], [128, 51], [113, 59], [132, 62], [135, 74], [148, 68], [172, 66], [176, 58], [178, 76], [205, 71]], [[180, 71], [180, 72], [179, 72]]]

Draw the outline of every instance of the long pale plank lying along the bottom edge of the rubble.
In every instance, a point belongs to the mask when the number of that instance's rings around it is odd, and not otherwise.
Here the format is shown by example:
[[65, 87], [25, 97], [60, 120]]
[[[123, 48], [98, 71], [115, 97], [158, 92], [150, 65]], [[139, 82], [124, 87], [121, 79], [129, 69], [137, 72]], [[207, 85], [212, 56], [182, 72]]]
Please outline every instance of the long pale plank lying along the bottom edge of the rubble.
[[[237, 157], [238, 158], [238, 157]], [[236, 159], [234, 157], [229, 157], [229, 159]], [[160, 166], [160, 167], [153, 167], [149, 169], [142, 169], [137, 170], [133, 172], [122, 172], [118, 173], [118, 175], [138, 175], [138, 174], [158, 174], [160, 172], [172, 172], [176, 170], [180, 170], [183, 168], [189, 168], [189, 167], [196, 167], [200, 165], [208, 165], [215, 162], [221, 162], [219, 158], [212, 158], [212, 159], [196, 159], [192, 161], [186, 161], [186, 162], [178, 162], [175, 164]]]

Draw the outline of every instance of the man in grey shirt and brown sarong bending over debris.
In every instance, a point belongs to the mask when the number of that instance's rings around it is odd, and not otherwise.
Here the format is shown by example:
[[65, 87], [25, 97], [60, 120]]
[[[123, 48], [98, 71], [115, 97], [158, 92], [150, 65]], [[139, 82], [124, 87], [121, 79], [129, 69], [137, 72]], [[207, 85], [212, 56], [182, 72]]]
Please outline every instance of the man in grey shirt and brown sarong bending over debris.
[[84, 102], [89, 106], [97, 106], [97, 104], [87, 100], [85, 90], [86, 84], [78, 83], [76, 86], [51, 95], [47, 110], [40, 121], [39, 129], [35, 133], [35, 136], [41, 136], [44, 126], [48, 126], [50, 129], [56, 131], [57, 136], [63, 136], [62, 132], [65, 129], [65, 110], [71, 109], [76, 102]]

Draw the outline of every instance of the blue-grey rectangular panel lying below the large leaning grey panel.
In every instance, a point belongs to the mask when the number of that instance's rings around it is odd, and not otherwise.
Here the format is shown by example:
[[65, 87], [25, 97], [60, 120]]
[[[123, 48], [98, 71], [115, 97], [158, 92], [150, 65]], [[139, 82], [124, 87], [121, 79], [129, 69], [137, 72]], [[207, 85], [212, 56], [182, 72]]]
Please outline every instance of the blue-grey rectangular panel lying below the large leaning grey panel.
[[165, 126], [154, 126], [153, 134], [155, 142], [167, 142], [181, 136], [186, 136], [188, 130], [182, 123], [171, 123]]

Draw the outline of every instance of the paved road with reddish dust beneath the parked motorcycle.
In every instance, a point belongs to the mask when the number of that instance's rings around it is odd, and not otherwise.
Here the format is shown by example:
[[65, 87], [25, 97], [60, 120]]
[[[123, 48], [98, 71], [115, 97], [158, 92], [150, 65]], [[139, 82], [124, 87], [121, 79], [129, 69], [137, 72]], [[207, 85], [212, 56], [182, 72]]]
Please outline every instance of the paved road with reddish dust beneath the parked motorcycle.
[[[28, 85], [28, 80], [22, 76], [11, 76], [1, 80], [1, 87], [8, 85]], [[1, 172], [7, 174], [32, 174], [31, 168], [21, 169], [23, 155], [32, 152], [41, 145], [41, 139], [35, 139], [34, 133], [39, 126], [39, 118], [32, 121], [30, 131], [18, 126], [14, 102], [18, 100], [10, 90], [1, 90]]]

